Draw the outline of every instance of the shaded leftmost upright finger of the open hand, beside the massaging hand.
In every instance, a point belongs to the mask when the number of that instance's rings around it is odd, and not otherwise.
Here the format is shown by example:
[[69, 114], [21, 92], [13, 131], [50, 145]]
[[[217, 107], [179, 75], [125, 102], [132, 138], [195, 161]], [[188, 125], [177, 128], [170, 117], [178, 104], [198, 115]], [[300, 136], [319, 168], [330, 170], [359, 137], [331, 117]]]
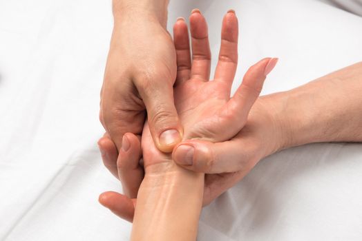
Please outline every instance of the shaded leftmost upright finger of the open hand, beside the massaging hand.
[[178, 18], [178, 21], [173, 25], [173, 43], [175, 44], [178, 65], [175, 85], [180, 85], [189, 80], [191, 73], [189, 30], [187, 30], [184, 18]]

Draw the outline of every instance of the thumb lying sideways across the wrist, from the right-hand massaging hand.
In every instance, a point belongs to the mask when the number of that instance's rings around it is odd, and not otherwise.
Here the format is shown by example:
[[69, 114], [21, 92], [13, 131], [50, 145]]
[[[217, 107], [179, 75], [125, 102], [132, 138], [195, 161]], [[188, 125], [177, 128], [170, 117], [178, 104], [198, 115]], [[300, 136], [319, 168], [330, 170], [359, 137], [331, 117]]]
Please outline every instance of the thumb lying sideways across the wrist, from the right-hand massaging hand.
[[252, 141], [245, 140], [238, 138], [222, 143], [187, 140], [175, 147], [172, 158], [186, 169], [206, 174], [240, 171], [255, 165], [254, 161], [262, 155]]

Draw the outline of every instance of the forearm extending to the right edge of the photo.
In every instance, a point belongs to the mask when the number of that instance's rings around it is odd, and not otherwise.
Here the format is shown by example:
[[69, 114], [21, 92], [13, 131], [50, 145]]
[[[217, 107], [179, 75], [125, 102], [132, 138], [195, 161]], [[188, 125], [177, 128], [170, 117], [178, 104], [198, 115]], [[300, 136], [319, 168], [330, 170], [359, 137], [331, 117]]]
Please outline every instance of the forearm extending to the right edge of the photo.
[[270, 95], [283, 143], [362, 141], [362, 62], [306, 85]]

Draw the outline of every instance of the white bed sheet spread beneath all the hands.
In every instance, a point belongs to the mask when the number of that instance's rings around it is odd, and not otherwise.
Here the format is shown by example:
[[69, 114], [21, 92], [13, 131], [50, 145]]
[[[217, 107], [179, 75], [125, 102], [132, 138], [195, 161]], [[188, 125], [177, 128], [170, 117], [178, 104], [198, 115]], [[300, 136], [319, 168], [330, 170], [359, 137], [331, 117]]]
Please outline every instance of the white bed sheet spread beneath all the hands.
[[[209, 21], [213, 56], [222, 15], [236, 10], [234, 89], [265, 56], [280, 61], [264, 94], [361, 61], [361, 17], [319, 1], [171, 1], [169, 28], [192, 8]], [[97, 203], [121, 191], [96, 146], [111, 29], [111, 1], [0, 1], [0, 240], [128, 240], [131, 224]], [[362, 240], [361, 147], [265, 158], [202, 211], [198, 240]]]

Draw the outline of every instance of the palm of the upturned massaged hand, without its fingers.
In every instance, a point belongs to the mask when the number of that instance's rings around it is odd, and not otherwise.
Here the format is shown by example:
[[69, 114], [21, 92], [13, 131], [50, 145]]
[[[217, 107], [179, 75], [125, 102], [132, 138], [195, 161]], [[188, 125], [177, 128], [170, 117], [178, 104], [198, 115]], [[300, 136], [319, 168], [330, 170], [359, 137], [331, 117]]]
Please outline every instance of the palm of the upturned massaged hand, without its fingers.
[[[218, 141], [214, 138], [222, 132], [222, 128], [218, 128], [222, 124], [218, 123], [218, 112], [229, 100], [222, 90], [225, 88], [221, 82], [204, 82], [197, 78], [174, 88], [175, 106], [184, 126], [184, 140], [201, 138]], [[155, 147], [148, 123], [142, 133], [142, 149], [145, 169], [172, 159], [171, 154], [164, 154]]]

